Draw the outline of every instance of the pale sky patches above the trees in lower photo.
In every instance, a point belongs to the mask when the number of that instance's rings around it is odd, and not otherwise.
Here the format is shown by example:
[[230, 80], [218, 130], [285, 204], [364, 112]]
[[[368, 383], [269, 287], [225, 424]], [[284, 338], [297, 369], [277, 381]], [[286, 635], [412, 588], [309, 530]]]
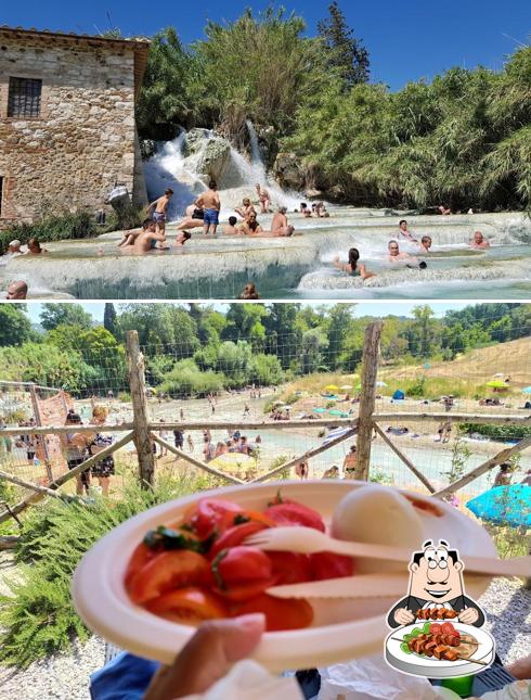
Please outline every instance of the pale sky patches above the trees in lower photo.
[[[79, 303], [79, 302], [76, 302]], [[160, 302], [163, 304], [168, 304], [168, 302]], [[208, 303], [208, 302], [207, 302]], [[427, 302], [361, 302], [355, 305], [355, 316], [388, 316], [389, 314], [396, 316], [411, 316], [412, 309], [418, 304], [426, 304]], [[436, 316], [443, 316], [445, 311], [450, 309], [462, 309], [465, 306], [469, 306], [470, 302], [428, 302], [429, 306], [433, 309]], [[475, 302], [472, 302], [475, 303]], [[318, 302], [303, 302], [305, 306], [325, 306], [326, 303], [322, 301]], [[333, 302], [332, 302], [333, 304]], [[95, 321], [103, 322], [103, 311], [105, 309], [105, 303], [98, 302], [81, 302], [80, 305], [85, 308], [86, 311], [91, 314]], [[225, 306], [224, 304], [212, 304], [216, 308], [220, 310]], [[115, 306], [119, 306], [117, 303]], [[38, 323], [39, 316], [42, 310], [42, 304], [36, 304], [35, 302], [27, 304], [28, 315], [31, 319], [31, 322]]]

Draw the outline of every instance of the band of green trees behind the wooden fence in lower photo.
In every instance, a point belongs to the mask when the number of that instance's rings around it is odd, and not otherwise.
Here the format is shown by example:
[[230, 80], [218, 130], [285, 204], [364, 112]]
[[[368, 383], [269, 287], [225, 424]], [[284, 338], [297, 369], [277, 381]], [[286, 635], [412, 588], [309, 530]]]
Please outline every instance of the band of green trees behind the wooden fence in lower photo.
[[[126, 304], [117, 311], [107, 304], [106, 319], [108, 328], [94, 326], [79, 305], [44, 305], [41, 321], [49, 330], [37, 332], [24, 306], [7, 307], [0, 377], [64, 387], [75, 396], [127, 392], [125, 332], [134, 329], [146, 357], [147, 384], [157, 393], [204, 396], [251, 383], [279, 385], [314, 372], [355, 371], [372, 320], [357, 317], [354, 304], [230, 304], [225, 313], [198, 304]], [[443, 318], [419, 305], [413, 318], [385, 319], [381, 354], [394, 367], [451, 360], [530, 334], [529, 304], [477, 304]], [[429, 386], [425, 378], [389, 378], [388, 385], [388, 391], [400, 387], [425, 397], [487, 391], [467, 378], [456, 378], [452, 386], [437, 377]]]

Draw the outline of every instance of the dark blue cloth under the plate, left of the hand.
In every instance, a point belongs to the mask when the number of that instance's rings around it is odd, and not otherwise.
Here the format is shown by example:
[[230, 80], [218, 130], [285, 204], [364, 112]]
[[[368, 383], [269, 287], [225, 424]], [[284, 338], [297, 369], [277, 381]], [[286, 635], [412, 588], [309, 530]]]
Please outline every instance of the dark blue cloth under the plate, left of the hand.
[[141, 700], [157, 669], [148, 661], [122, 652], [90, 676], [92, 700]]

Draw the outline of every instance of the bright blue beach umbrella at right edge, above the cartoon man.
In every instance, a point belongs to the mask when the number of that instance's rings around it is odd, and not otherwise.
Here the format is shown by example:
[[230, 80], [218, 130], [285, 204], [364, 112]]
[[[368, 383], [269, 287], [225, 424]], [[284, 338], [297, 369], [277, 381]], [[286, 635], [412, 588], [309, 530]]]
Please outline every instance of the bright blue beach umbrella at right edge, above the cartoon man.
[[467, 501], [475, 516], [496, 525], [531, 527], [531, 486], [496, 486]]

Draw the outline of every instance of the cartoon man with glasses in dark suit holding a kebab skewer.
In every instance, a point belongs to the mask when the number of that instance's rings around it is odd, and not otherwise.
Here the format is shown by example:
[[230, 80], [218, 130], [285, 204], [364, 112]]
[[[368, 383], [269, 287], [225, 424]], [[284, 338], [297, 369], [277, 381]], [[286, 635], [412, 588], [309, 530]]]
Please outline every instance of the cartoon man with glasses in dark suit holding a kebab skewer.
[[422, 551], [413, 552], [407, 567], [409, 594], [389, 611], [388, 625], [399, 627], [416, 621], [458, 619], [465, 624], [481, 627], [484, 613], [475, 600], [465, 595], [464, 567], [459, 552], [450, 549], [444, 540], [438, 545], [426, 542]]

